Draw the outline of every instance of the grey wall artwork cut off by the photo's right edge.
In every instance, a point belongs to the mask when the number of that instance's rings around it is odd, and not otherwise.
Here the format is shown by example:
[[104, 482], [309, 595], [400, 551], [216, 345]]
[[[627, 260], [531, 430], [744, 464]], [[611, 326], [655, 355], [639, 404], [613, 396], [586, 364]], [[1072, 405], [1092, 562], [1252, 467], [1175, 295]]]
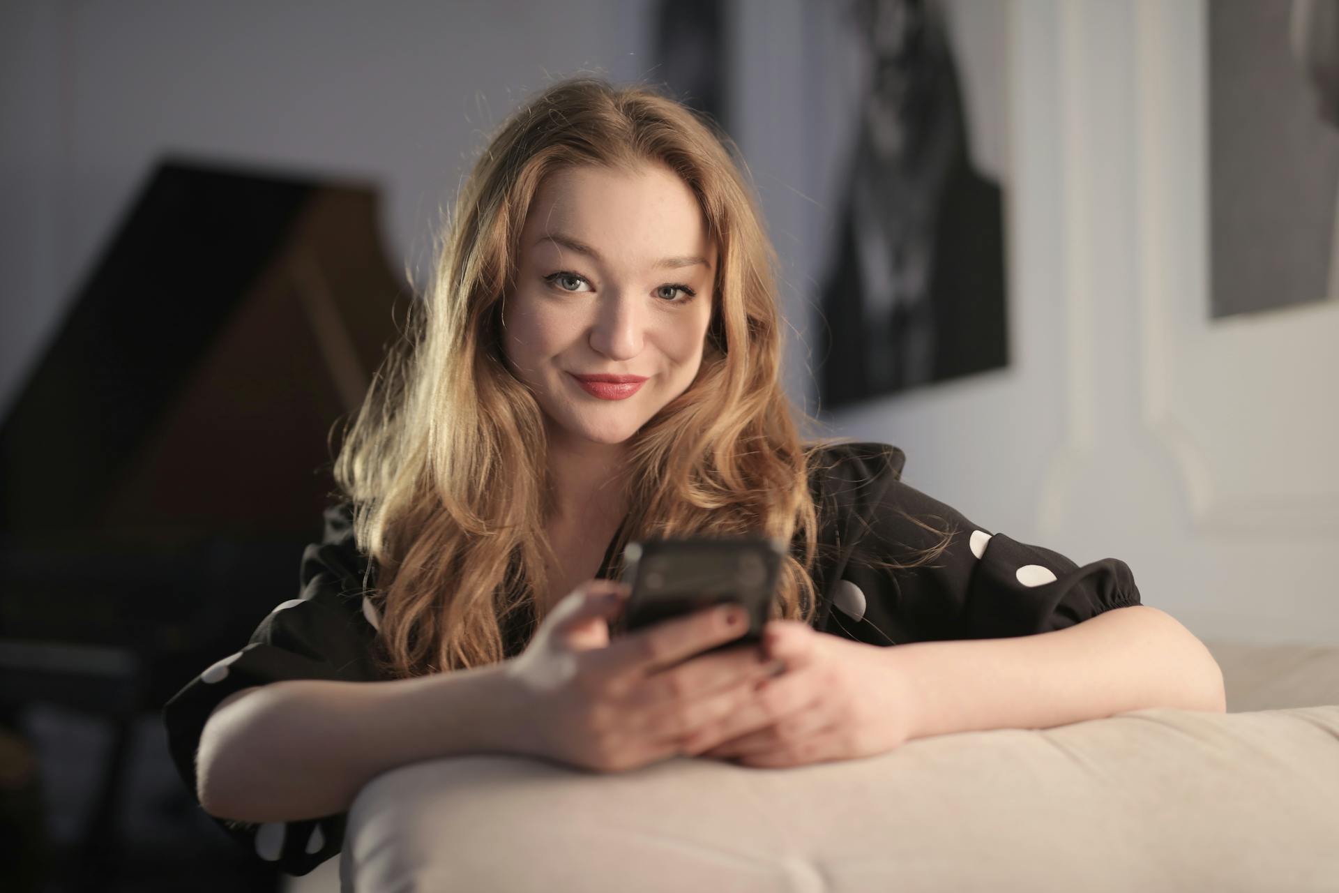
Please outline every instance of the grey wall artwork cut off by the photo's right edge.
[[1339, 299], [1339, 3], [1206, 4], [1212, 319]]

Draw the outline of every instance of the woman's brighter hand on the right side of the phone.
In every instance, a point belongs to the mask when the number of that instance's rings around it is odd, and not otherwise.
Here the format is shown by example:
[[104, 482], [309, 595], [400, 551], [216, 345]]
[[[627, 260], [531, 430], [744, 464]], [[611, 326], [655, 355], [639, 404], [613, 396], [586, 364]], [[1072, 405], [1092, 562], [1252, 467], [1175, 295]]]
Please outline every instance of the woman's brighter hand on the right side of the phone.
[[753, 702], [695, 734], [684, 754], [787, 767], [873, 756], [913, 727], [913, 688], [886, 648], [850, 641], [798, 620], [771, 620], [763, 649], [785, 661]]

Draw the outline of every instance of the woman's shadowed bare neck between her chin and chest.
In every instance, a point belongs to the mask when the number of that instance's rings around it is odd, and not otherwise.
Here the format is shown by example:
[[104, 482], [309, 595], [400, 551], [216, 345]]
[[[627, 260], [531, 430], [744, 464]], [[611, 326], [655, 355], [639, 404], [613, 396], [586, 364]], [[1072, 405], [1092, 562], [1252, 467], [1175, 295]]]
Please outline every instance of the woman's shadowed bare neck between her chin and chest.
[[617, 525], [628, 511], [623, 443], [574, 440], [549, 428], [549, 479], [557, 523]]

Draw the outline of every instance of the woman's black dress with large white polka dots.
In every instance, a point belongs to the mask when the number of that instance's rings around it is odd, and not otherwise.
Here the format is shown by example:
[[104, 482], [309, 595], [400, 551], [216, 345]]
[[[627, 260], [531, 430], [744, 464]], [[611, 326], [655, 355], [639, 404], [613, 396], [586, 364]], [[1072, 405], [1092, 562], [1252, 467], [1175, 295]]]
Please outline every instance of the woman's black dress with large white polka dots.
[[[810, 482], [821, 525], [817, 629], [873, 645], [995, 639], [1063, 629], [1139, 604], [1125, 562], [1103, 558], [1078, 566], [1056, 552], [977, 526], [904, 483], [904, 462], [901, 450], [881, 443], [823, 450]], [[928, 564], [892, 570], [868, 561], [908, 564], [937, 545], [940, 532], [952, 536]], [[612, 576], [613, 545], [600, 577]], [[284, 679], [387, 679], [372, 660], [380, 617], [370, 585], [375, 568], [353, 541], [351, 507], [332, 506], [323, 541], [303, 553], [300, 596], [276, 605], [248, 644], [204, 668], [163, 707], [173, 760], [191, 794], [205, 720], [230, 694]], [[521, 612], [507, 628], [507, 656], [524, 649], [533, 624], [533, 613]], [[214, 821], [256, 858], [307, 874], [339, 853], [344, 819], [341, 813], [260, 825]]]

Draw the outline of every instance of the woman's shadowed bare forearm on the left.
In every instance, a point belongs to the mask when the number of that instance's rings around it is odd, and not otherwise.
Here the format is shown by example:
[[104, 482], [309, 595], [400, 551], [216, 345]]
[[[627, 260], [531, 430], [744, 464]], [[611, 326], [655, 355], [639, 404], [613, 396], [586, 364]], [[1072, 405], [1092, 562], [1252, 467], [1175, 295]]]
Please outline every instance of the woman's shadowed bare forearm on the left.
[[501, 664], [382, 683], [288, 680], [224, 704], [205, 724], [200, 795], [221, 818], [280, 822], [345, 811], [407, 763], [509, 752]]

